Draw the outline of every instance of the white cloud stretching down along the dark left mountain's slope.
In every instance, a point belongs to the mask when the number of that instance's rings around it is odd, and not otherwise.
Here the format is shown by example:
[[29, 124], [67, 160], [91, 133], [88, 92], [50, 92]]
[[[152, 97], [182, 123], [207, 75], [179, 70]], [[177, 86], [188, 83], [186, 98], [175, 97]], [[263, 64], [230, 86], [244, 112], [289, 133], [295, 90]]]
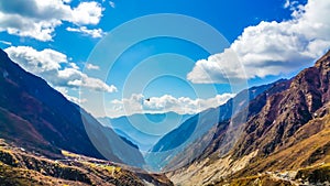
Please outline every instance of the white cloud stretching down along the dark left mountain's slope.
[[50, 48], [36, 51], [30, 46], [11, 46], [4, 50], [9, 57], [25, 70], [46, 79], [54, 87], [85, 87], [97, 91], [113, 92], [117, 88], [101, 79], [89, 77], [69, 63], [67, 56]]

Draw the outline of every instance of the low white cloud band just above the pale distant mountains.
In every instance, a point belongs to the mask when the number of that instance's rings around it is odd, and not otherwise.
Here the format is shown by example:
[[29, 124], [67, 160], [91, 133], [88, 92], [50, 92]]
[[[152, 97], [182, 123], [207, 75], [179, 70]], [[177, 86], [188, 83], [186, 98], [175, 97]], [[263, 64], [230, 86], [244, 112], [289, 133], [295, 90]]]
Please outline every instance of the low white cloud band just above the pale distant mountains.
[[130, 98], [111, 101], [111, 117], [130, 116], [133, 113], [164, 113], [174, 111], [180, 114], [198, 113], [209, 108], [226, 103], [233, 94], [217, 95], [209, 99], [191, 99], [187, 97], [175, 98], [170, 95], [145, 98], [141, 94], [133, 94]]

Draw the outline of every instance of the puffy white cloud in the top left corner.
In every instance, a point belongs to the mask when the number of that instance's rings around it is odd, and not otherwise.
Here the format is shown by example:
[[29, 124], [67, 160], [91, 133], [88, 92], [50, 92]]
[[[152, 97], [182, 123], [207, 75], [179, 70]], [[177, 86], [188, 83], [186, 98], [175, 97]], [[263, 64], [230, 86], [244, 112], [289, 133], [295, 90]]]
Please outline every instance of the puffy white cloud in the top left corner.
[[76, 25], [98, 24], [102, 7], [95, 2], [80, 2], [76, 8], [68, 0], [10, 0], [0, 1], [0, 32], [51, 41], [55, 28], [63, 21]]

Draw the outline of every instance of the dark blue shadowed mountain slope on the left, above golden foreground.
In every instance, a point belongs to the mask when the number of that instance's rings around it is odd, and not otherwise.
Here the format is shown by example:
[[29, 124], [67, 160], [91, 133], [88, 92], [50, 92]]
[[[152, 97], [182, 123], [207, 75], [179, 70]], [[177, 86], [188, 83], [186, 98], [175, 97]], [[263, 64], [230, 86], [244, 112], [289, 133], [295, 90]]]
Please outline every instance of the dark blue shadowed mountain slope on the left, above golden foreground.
[[[139, 150], [0, 50], [0, 138], [51, 157], [67, 150], [141, 166]], [[106, 147], [102, 147], [106, 146]], [[100, 152], [101, 153], [100, 153]]]

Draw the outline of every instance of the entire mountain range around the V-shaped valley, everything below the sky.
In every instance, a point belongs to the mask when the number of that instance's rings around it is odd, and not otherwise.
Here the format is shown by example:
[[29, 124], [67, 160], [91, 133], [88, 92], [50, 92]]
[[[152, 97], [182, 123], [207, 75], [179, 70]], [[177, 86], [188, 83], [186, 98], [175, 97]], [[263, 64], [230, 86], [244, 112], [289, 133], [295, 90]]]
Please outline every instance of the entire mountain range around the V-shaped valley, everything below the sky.
[[[101, 124], [0, 51], [0, 182], [327, 185], [329, 79], [330, 52], [290, 79], [242, 90], [196, 116], [179, 116], [162, 133], [143, 128], [143, 117], [157, 124], [166, 121], [164, 114], [103, 118]], [[148, 151], [142, 155], [139, 147]]]

